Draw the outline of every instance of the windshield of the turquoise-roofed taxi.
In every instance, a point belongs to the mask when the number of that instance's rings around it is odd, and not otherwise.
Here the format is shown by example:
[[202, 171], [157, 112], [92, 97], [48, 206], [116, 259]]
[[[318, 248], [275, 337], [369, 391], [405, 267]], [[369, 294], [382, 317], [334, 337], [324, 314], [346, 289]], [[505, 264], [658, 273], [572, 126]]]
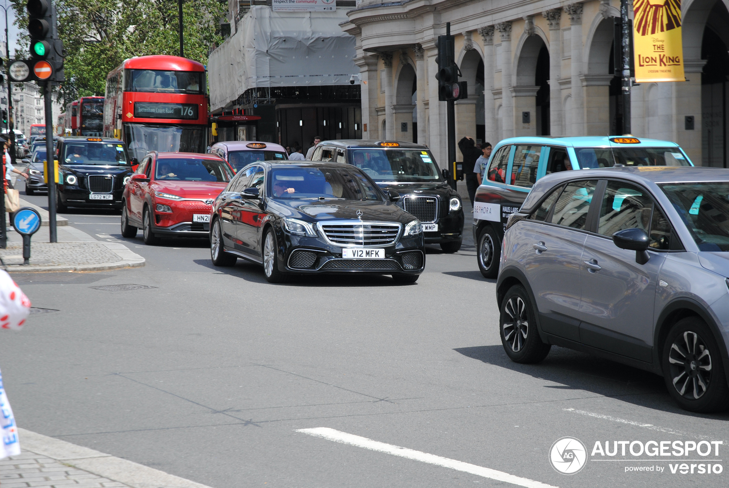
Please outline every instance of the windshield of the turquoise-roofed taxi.
[[624, 166], [690, 166], [680, 148], [674, 147], [576, 147], [580, 168]]

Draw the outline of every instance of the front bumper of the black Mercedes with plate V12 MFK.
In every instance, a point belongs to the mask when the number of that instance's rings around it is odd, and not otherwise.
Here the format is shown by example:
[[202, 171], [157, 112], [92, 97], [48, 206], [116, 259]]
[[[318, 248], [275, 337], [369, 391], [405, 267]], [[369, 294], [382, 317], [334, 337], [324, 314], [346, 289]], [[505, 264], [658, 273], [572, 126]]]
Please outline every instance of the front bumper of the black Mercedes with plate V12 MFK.
[[383, 246], [384, 259], [343, 258], [339, 246], [330, 245], [320, 237], [290, 235], [282, 229], [277, 230], [276, 237], [278, 243], [283, 244], [278, 245], [278, 269], [281, 272], [420, 275], [425, 269], [422, 235], [401, 237], [394, 245]]

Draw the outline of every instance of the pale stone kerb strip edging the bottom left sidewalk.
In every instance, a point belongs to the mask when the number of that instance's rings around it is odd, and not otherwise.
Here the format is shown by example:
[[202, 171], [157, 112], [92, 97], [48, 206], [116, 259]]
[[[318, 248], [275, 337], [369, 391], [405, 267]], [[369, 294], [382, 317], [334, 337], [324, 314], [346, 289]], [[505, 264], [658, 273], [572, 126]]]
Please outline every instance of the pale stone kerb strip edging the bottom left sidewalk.
[[[210, 488], [121, 457], [114, 457], [24, 428], [19, 427], [17, 430], [24, 450], [50, 457], [65, 465], [118, 481], [132, 488]], [[51, 484], [52, 481], [48, 483]]]

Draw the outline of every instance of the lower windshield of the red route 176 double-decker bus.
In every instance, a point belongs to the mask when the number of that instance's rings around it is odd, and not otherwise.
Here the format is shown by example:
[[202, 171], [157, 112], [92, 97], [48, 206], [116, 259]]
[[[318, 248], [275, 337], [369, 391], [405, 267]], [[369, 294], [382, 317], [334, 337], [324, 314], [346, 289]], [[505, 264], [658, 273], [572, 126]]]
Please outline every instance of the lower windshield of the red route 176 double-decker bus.
[[124, 131], [129, 151], [138, 161], [149, 151], [204, 153], [206, 149], [204, 125], [125, 124]]

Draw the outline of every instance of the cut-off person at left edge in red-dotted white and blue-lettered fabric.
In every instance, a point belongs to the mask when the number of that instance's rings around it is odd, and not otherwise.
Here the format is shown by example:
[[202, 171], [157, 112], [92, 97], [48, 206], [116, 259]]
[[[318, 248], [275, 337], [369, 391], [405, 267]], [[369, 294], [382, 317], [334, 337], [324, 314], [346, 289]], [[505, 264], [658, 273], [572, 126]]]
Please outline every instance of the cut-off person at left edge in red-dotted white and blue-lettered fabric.
[[[31, 301], [17, 287], [7, 272], [0, 270], [0, 328], [20, 330], [31, 311]], [[7, 400], [0, 373], [0, 460], [20, 455], [20, 440], [10, 403]]]

